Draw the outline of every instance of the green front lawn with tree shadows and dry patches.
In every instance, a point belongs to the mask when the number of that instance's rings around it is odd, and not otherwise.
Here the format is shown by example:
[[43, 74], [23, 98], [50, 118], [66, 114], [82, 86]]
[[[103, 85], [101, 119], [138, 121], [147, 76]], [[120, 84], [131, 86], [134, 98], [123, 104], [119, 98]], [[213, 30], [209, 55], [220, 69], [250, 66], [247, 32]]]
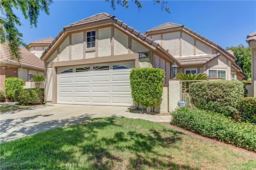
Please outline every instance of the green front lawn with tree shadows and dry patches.
[[1, 169], [244, 169], [246, 154], [141, 119], [106, 117], [1, 143]]

